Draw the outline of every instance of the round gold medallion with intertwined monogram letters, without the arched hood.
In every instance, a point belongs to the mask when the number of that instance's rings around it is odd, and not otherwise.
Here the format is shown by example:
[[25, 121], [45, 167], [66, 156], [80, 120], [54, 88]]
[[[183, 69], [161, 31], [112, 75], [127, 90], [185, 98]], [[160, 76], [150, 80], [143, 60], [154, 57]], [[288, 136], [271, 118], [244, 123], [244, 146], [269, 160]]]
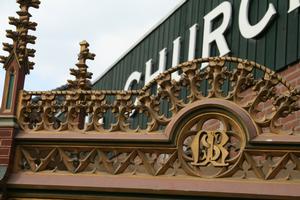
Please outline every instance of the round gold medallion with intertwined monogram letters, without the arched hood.
[[222, 177], [230, 173], [245, 147], [245, 132], [238, 120], [223, 109], [212, 109], [199, 109], [180, 130], [179, 159], [191, 175]]

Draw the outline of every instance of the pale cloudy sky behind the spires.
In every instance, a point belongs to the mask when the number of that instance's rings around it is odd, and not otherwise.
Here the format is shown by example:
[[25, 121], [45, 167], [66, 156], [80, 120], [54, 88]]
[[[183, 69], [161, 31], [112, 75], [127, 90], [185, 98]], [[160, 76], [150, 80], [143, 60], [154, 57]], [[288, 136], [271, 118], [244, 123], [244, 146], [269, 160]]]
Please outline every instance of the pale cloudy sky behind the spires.
[[[31, 21], [37, 22], [34, 48], [34, 70], [26, 76], [25, 90], [51, 90], [73, 79], [69, 68], [75, 67], [79, 42], [87, 40], [90, 52], [89, 71], [96, 79], [105, 69], [126, 52], [151, 27], [158, 23], [182, 0], [41, 0], [40, 8], [31, 8]], [[15, 0], [0, 0], [0, 55], [5, 30], [14, 27], [8, 17], [17, 17]], [[0, 64], [0, 101], [4, 69]]]

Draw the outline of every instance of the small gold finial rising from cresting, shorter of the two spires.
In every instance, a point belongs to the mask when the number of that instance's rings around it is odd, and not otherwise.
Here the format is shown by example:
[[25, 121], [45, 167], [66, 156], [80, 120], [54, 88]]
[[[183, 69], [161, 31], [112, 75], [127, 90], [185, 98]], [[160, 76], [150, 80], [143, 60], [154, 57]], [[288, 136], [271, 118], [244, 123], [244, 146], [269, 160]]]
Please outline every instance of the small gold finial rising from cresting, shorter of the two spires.
[[90, 90], [92, 88], [91, 81], [93, 73], [88, 72], [86, 65], [86, 60], [94, 60], [95, 54], [90, 53], [89, 43], [87, 41], [82, 41], [80, 44], [80, 53], [78, 55], [78, 63], [76, 66], [78, 69], [70, 69], [70, 74], [75, 76], [75, 80], [68, 80], [70, 89], [77, 90]]

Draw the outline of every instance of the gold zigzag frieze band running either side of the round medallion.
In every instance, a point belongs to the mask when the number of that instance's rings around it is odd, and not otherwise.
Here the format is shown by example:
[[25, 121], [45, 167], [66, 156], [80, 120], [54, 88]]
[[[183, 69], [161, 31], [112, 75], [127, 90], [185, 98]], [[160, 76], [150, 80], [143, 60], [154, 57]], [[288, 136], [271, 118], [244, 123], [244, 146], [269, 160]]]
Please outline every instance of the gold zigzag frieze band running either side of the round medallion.
[[[176, 149], [21, 145], [17, 153], [20, 153], [20, 159], [15, 161], [18, 172], [170, 177], [190, 174], [184, 169]], [[299, 151], [244, 150], [234, 165], [227, 166], [227, 171], [221, 170], [212, 177], [297, 182], [299, 160]]]

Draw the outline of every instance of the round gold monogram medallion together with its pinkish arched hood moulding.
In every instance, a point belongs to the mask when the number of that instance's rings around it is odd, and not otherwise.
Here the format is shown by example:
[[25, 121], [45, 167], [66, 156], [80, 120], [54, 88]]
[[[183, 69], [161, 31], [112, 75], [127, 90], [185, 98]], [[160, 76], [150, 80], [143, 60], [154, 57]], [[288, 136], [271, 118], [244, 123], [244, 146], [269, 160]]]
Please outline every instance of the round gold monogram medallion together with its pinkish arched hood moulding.
[[258, 129], [245, 110], [219, 99], [198, 101], [167, 127], [175, 137], [183, 170], [200, 177], [223, 177], [237, 167]]

